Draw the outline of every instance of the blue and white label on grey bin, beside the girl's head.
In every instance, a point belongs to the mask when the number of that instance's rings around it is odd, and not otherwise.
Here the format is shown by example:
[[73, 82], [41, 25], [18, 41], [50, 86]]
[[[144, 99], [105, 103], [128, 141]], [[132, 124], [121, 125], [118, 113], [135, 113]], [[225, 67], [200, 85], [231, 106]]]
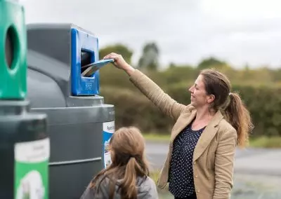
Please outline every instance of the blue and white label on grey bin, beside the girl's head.
[[110, 139], [114, 132], [115, 121], [103, 123], [103, 160], [105, 167], [111, 164], [111, 157], [110, 151], [108, 151], [108, 146], [110, 144]]

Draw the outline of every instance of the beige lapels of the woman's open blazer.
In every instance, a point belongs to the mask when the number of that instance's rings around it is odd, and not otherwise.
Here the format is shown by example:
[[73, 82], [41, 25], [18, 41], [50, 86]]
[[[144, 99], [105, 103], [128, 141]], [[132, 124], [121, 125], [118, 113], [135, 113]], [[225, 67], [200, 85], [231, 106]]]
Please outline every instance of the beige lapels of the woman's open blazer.
[[[191, 113], [185, 112], [178, 118], [178, 121], [176, 122], [174, 130], [171, 135], [171, 142], [170, 142], [171, 144], [174, 142], [176, 136], [187, 125], [190, 124], [190, 122], [195, 118], [195, 116], [196, 116], [196, 109], [192, 109]], [[200, 136], [200, 139], [198, 140], [197, 145], [195, 146], [195, 150], [193, 154], [193, 162], [201, 156], [201, 154], [207, 148], [211, 140], [214, 138], [216, 132], [218, 131], [217, 125], [222, 119], [223, 119], [223, 115], [221, 114], [221, 111], [217, 111], [214, 117], [211, 119], [209, 124], [202, 132], [202, 135]]]

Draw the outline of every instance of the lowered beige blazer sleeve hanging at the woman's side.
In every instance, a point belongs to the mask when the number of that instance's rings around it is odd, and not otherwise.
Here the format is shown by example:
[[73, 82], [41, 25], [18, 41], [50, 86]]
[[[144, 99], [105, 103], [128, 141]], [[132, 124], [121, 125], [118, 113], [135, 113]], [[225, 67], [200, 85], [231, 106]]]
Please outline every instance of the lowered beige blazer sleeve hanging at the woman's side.
[[215, 190], [213, 199], [229, 199], [233, 188], [233, 165], [237, 133], [235, 129], [221, 134], [215, 158]]

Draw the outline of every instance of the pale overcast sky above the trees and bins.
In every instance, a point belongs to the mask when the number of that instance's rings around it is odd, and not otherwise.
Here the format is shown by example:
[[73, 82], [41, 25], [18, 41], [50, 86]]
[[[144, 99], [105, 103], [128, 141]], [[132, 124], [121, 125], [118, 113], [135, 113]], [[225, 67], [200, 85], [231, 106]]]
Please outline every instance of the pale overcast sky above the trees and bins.
[[160, 63], [196, 65], [214, 56], [241, 68], [281, 67], [280, 0], [22, 0], [27, 23], [71, 22], [100, 48], [123, 43], [138, 61], [155, 42]]

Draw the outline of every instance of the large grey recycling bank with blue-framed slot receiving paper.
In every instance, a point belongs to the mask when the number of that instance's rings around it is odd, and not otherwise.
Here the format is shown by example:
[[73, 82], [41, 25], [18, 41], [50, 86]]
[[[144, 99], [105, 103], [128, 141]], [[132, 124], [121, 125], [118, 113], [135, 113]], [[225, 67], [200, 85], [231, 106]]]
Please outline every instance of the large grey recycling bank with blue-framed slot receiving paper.
[[115, 131], [114, 106], [99, 95], [100, 70], [84, 73], [99, 60], [98, 38], [72, 24], [31, 24], [27, 47], [27, 98], [48, 116], [50, 198], [79, 198], [110, 163]]

